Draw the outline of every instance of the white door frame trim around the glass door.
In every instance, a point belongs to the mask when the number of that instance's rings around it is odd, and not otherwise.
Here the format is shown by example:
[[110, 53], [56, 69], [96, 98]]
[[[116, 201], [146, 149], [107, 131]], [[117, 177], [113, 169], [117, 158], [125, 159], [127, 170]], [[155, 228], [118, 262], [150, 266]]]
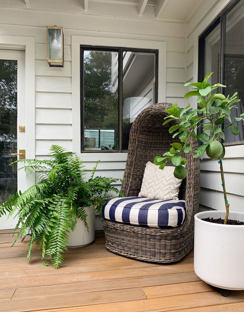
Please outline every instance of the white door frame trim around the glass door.
[[[0, 49], [25, 50], [26, 158], [35, 158], [35, 38], [0, 35]], [[35, 175], [26, 173], [25, 182], [26, 189], [35, 184]]]

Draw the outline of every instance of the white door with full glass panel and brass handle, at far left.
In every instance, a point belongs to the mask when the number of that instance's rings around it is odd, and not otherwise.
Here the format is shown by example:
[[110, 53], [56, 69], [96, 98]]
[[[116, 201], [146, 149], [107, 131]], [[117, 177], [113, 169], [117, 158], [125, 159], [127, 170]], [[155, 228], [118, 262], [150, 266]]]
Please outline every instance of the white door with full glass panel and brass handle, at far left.
[[[10, 165], [25, 151], [24, 51], [0, 50], [0, 204], [17, 190], [25, 191], [21, 164]], [[22, 187], [21, 187], [22, 186]], [[12, 229], [16, 219], [0, 218], [0, 230]]]

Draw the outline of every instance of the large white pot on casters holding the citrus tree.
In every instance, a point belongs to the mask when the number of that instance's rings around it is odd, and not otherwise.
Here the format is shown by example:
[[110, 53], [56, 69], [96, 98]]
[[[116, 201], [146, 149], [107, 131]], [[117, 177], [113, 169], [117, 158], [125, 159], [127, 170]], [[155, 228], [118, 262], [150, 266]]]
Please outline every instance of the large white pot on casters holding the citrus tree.
[[[195, 215], [194, 270], [206, 283], [222, 289], [244, 289], [244, 225], [202, 221], [222, 218], [225, 211]], [[229, 219], [244, 221], [244, 213], [230, 212]]]

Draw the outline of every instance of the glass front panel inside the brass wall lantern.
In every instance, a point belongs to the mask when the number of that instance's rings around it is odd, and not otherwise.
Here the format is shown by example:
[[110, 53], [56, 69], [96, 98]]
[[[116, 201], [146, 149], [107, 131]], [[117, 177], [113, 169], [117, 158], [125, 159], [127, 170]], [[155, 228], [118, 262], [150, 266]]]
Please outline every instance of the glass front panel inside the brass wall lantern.
[[62, 32], [61, 29], [48, 29], [48, 53], [50, 60], [62, 59]]

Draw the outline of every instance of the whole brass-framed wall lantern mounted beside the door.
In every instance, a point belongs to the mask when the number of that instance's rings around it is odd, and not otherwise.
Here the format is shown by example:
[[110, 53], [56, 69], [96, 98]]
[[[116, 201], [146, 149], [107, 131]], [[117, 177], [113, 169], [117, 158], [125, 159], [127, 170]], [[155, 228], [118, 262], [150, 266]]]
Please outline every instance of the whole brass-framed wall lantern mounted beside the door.
[[50, 67], [63, 67], [63, 28], [47, 26], [47, 63]]

